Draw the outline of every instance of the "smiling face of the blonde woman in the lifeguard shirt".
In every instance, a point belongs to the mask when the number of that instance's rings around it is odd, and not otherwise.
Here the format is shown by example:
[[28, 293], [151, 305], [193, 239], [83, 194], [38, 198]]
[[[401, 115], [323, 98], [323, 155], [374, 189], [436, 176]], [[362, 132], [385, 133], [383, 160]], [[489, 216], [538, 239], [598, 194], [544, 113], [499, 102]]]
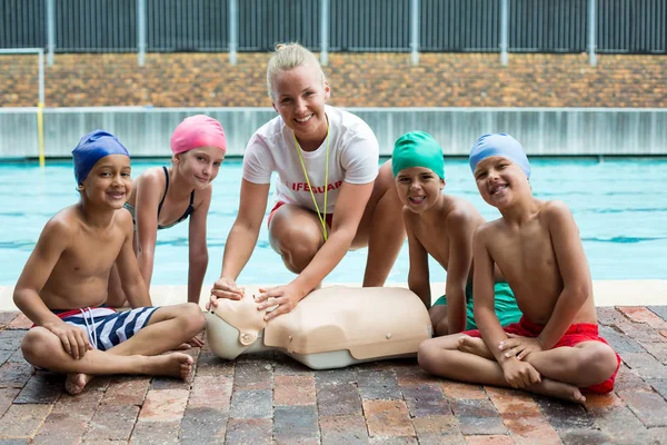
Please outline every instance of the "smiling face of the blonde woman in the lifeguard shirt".
[[329, 85], [322, 80], [320, 70], [311, 65], [301, 65], [278, 71], [272, 86], [273, 108], [295, 131], [297, 139], [301, 144], [321, 144], [327, 136], [325, 101], [329, 98]]

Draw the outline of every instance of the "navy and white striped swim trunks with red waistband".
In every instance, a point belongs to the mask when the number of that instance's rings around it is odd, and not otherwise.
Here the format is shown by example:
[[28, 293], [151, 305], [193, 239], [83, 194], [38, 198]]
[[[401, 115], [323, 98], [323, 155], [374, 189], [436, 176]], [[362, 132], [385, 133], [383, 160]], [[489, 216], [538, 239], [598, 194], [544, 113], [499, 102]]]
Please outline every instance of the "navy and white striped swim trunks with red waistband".
[[90, 344], [99, 350], [119, 345], [141, 330], [158, 307], [116, 312], [108, 307], [84, 307], [73, 310], [53, 310], [60, 319], [71, 326], [80, 327], [88, 334]]

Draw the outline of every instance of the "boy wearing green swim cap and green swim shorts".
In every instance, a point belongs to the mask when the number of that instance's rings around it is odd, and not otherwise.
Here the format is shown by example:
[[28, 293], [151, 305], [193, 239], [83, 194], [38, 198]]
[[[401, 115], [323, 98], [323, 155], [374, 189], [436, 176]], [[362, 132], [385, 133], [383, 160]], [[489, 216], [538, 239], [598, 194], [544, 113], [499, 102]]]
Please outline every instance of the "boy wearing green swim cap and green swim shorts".
[[[410, 131], [394, 146], [391, 167], [408, 235], [408, 286], [421, 298], [434, 335], [475, 329], [472, 313], [472, 235], [485, 222], [472, 204], [442, 192], [445, 161], [438, 142], [424, 131]], [[428, 255], [447, 270], [447, 296], [431, 306]], [[501, 325], [521, 317], [514, 294], [499, 269], [496, 313]]]

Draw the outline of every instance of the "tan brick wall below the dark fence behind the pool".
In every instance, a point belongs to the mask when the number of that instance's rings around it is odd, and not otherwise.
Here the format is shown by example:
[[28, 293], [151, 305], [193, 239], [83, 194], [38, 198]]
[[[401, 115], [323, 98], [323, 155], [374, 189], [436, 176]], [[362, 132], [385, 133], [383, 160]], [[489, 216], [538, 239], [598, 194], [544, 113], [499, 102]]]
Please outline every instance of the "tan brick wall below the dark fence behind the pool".
[[[269, 107], [267, 53], [56, 55], [49, 107]], [[667, 107], [667, 57], [330, 53], [331, 103], [346, 107]], [[0, 106], [38, 98], [37, 56], [0, 56]]]

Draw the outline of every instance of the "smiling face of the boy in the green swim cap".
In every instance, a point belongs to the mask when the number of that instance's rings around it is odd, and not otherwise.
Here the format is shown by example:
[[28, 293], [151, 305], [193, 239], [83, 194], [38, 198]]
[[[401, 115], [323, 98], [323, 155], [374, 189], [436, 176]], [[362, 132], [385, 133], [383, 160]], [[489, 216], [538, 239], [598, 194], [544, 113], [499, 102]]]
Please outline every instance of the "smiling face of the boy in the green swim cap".
[[404, 206], [421, 214], [438, 202], [445, 180], [426, 167], [405, 168], [396, 176], [398, 197]]

